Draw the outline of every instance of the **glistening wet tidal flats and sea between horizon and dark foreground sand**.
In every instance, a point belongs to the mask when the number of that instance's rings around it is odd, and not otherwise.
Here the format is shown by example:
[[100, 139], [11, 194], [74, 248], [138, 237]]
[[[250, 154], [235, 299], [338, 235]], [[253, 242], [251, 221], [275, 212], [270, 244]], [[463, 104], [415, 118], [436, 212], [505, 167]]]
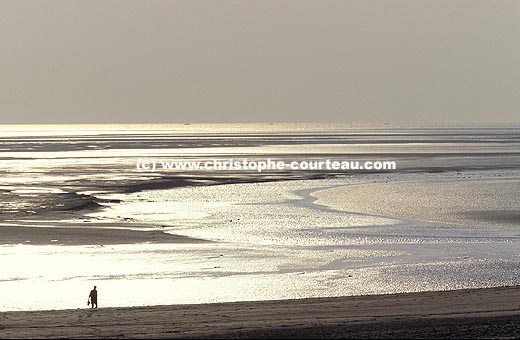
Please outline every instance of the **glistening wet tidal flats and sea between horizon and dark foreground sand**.
[[[0, 136], [1, 310], [83, 308], [93, 285], [100, 306], [134, 306], [520, 284], [520, 128], [3, 126]], [[138, 159], [231, 158], [398, 169], [136, 170]], [[13, 227], [48, 233], [22, 240]], [[56, 228], [210, 242], [81, 244]]]

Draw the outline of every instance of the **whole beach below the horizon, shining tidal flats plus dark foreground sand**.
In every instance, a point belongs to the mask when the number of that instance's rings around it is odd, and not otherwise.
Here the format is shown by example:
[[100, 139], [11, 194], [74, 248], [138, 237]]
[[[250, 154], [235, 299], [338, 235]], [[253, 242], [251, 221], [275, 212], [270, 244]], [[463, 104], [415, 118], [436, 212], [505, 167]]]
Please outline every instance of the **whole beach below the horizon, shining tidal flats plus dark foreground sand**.
[[0, 337], [518, 336], [517, 129], [229, 128], [6, 132]]

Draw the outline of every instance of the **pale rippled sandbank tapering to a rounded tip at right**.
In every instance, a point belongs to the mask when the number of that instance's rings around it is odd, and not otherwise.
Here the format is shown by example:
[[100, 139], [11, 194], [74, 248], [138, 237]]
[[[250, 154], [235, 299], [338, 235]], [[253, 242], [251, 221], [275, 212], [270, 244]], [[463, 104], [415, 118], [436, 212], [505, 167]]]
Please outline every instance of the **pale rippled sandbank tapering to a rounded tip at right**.
[[[314, 192], [328, 208], [466, 226], [520, 224], [520, 178], [497, 173], [348, 185]], [[473, 199], [475, 198], [475, 199]]]

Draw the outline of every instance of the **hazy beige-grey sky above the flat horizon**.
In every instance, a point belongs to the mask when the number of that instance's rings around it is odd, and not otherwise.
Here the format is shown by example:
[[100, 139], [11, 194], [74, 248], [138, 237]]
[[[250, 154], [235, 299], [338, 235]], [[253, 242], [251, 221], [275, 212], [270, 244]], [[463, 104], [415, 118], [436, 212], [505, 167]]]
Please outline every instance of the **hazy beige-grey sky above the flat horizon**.
[[520, 1], [0, 0], [0, 117], [520, 122]]

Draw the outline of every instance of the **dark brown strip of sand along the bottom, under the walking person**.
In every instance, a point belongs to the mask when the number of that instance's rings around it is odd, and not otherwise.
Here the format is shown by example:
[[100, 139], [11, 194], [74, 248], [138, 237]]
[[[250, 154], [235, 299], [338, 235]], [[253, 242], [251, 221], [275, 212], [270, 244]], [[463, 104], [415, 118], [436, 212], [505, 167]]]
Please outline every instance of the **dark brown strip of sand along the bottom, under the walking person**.
[[0, 313], [0, 337], [518, 339], [520, 286], [286, 301], [6, 312]]

